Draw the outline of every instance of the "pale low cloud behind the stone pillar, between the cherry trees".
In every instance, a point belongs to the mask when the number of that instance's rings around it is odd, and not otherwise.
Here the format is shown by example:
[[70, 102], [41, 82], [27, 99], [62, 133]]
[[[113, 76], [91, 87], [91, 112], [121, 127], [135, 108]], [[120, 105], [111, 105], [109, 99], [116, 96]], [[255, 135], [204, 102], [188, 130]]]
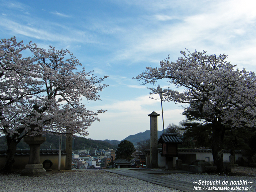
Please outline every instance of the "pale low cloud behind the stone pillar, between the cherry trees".
[[[158, 95], [155, 95], [157, 98]], [[150, 117], [147, 115], [155, 111], [161, 114], [161, 102], [150, 99], [148, 95], [126, 101], [113, 101], [111, 104], [99, 106], [107, 109], [106, 113], [99, 114], [100, 122], [94, 122], [88, 129], [92, 139], [122, 140], [129, 135], [144, 132], [150, 129]], [[184, 119], [181, 114], [184, 110], [173, 102], [163, 102], [163, 116], [165, 128], [170, 123], [178, 124]], [[162, 116], [158, 117], [158, 130], [162, 128]], [[107, 134], [99, 134], [104, 133]]]

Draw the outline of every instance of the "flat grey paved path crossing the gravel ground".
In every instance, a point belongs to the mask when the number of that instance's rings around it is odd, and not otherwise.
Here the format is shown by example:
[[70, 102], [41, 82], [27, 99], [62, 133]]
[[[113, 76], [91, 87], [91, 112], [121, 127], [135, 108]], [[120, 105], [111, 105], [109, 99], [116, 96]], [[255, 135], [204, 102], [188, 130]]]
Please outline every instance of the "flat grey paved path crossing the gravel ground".
[[[140, 179], [143, 181], [151, 182], [151, 183], [158, 184], [158, 185], [163, 185], [165, 187], [169, 187], [169, 188], [173, 188], [173, 189], [177, 189], [177, 190], [185, 191], [185, 192], [199, 192], [199, 187], [204, 187], [202, 185], [196, 185], [196, 184], [192, 184], [192, 183], [185, 182], [185, 181], [179, 181], [179, 180], [175, 180], [175, 179], [170, 179], [170, 178], [150, 174], [150, 173], [159, 174], [159, 173], [157, 173], [158, 171], [149, 171], [149, 170], [148, 171], [135, 171], [135, 170], [131, 170], [131, 169], [104, 169], [104, 170], [107, 172], [117, 173], [120, 175], [137, 178], [137, 179]], [[161, 171], [161, 173], [166, 173], [166, 172], [173, 173], [173, 171]], [[179, 171], [179, 173], [181, 173], [181, 172]], [[183, 172], [183, 173], [185, 173], [185, 172]], [[208, 190], [205, 191], [205, 190], [201, 189], [200, 192], [208, 192]], [[217, 191], [213, 191], [213, 192], [217, 192]]]

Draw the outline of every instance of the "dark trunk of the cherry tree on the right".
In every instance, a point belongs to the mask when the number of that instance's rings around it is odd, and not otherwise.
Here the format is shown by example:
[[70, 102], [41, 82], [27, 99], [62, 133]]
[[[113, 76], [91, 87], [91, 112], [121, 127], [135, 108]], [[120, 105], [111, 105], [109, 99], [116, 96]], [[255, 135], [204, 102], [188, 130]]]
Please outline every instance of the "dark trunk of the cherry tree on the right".
[[212, 126], [212, 156], [218, 173], [225, 172], [223, 166], [222, 141], [224, 136], [223, 125], [215, 120]]

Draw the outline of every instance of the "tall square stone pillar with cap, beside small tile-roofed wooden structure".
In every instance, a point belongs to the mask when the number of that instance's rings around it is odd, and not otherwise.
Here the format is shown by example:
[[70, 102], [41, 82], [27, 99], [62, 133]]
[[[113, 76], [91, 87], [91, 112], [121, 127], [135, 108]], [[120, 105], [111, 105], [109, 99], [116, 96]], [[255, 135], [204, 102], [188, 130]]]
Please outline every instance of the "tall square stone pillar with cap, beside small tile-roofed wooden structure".
[[158, 168], [158, 150], [157, 150], [157, 117], [160, 114], [152, 112], [150, 117], [150, 168]]

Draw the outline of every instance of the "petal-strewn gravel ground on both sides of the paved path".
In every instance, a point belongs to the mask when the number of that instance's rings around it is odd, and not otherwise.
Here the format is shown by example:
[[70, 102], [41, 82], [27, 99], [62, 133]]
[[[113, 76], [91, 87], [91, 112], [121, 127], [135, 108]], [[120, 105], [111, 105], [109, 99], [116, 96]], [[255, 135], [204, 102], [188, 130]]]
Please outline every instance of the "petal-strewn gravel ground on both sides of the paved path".
[[[159, 169], [153, 169], [159, 170]], [[163, 175], [180, 181], [198, 182], [220, 180], [220, 185], [202, 185], [209, 187], [230, 187], [230, 190], [219, 191], [252, 191], [256, 192], [256, 168], [236, 167], [230, 175], [172, 173]], [[19, 174], [0, 174], [0, 192], [83, 192], [83, 191], [116, 191], [116, 192], [181, 192], [176, 189], [151, 184], [132, 177], [126, 177], [104, 170], [77, 170], [48, 172], [48, 176], [25, 177]], [[250, 181], [247, 185], [222, 185], [222, 181]], [[244, 187], [232, 189], [231, 187]], [[250, 188], [250, 190], [245, 187]]]

